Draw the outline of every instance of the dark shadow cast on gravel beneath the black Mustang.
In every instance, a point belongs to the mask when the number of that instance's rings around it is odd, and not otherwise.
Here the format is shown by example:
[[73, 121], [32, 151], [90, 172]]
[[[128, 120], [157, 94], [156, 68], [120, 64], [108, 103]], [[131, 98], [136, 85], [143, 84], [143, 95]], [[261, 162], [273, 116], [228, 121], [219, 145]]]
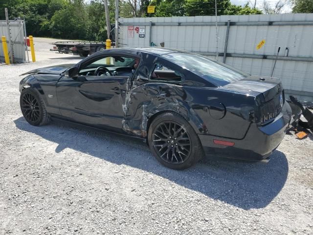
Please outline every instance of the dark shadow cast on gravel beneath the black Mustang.
[[67, 123], [51, 122], [37, 127], [22, 117], [14, 122], [22, 131], [57, 143], [56, 153], [71, 148], [113, 164], [129, 165], [244, 210], [266, 207], [284, 187], [288, 176], [287, 158], [278, 150], [267, 164], [204, 158], [195, 166], [178, 171], [159, 164], [140, 140], [92, 129], [86, 132], [85, 128], [72, 128]]

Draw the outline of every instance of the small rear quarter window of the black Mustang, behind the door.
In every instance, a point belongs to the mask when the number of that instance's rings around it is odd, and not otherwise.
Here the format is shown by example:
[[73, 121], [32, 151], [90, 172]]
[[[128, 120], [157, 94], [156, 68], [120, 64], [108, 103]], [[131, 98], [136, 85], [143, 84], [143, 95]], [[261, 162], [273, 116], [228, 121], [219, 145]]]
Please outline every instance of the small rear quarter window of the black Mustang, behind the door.
[[151, 81], [162, 81], [169, 83], [180, 83], [182, 75], [179, 71], [172, 70], [168, 66], [157, 63], [150, 75]]

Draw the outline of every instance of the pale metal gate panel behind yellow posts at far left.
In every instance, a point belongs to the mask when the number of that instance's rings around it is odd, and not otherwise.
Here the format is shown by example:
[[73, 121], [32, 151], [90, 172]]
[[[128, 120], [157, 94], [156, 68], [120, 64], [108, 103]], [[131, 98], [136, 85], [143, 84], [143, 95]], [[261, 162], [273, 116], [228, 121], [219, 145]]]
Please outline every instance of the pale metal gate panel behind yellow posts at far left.
[[[25, 44], [25, 22], [0, 21], [0, 37], [5, 36], [11, 63], [26, 61], [27, 45]], [[4, 61], [3, 47], [0, 40], [0, 61]]]

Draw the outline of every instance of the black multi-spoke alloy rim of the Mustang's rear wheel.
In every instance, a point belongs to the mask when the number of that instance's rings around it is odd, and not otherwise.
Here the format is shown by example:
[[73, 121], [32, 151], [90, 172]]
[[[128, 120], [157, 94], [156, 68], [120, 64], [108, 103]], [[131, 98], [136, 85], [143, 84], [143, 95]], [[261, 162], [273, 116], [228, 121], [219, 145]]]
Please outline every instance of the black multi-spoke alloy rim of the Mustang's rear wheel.
[[191, 153], [191, 140], [183, 126], [163, 121], [153, 133], [153, 147], [159, 157], [170, 164], [182, 164]]

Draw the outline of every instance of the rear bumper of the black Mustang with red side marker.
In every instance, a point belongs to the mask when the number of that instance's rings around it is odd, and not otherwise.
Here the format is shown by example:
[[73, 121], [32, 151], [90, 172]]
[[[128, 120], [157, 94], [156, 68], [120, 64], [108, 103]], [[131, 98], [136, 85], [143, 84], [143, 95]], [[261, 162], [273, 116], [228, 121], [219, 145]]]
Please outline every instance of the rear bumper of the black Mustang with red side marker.
[[208, 155], [246, 160], [263, 160], [270, 157], [273, 150], [284, 139], [290, 120], [291, 108], [285, 102], [282, 112], [271, 123], [265, 126], [251, 123], [242, 140], [209, 135], [198, 136], [204, 152]]

